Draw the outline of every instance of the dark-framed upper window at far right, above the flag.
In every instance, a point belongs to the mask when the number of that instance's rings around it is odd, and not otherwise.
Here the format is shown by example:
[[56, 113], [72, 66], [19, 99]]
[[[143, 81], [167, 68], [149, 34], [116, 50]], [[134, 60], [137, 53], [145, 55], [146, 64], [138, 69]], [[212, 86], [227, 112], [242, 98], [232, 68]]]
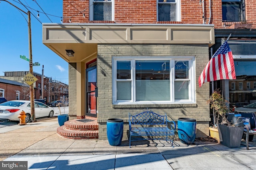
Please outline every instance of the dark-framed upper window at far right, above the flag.
[[243, 8], [242, 0], [222, 0], [222, 21], [243, 21]]

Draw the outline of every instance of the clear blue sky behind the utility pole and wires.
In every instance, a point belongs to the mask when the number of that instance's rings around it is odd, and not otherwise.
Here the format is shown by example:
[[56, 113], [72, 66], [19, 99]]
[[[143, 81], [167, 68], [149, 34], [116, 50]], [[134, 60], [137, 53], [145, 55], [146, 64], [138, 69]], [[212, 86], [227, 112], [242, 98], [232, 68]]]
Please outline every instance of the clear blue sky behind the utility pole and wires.
[[[62, 0], [7, 0], [21, 10], [31, 12], [32, 59], [40, 66], [33, 71], [68, 84], [68, 63], [42, 43], [42, 23], [60, 23]], [[4, 71], [28, 71], [28, 15], [0, 0], [0, 75]], [[26, 6], [26, 9], [24, 6]], [[32, 9], [31, 9], [32, 8]], [[39, 13], [39, 18], [37, 14]], [[44, 14], [46, 13], [46, 14]], [[34, 15], [34, 16], [33, 16]], [[50, 19], [49, 19], [50, 18]], [[40, 20], [40, 22], [38, 21]]]

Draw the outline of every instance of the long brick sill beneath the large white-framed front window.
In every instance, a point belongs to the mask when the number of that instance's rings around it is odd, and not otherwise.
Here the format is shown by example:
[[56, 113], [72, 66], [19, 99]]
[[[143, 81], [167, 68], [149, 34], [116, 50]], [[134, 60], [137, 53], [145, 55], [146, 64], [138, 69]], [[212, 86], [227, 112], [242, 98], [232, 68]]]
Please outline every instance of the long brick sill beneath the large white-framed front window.
[[134, 105], [114, 105], [112, 104], [112, 108], [114, 109], [125, 109], [125, 108], [166, 108], [166, 107], [197, 107], [196, 103], [190, 104], [134, 104]]

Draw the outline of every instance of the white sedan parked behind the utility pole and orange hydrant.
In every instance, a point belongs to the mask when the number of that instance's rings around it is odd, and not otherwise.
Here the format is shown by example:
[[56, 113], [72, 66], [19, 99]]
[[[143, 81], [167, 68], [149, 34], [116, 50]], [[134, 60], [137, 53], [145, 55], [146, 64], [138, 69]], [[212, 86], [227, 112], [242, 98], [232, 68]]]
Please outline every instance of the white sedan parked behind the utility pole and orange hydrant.
[[[0, 121], [20, 121], [18, 115], [21, 111], [26, 113], [26, 123], [31, 119], [30, 101], [13, 100], [0, 104]], [[54, 109], [44, 103], [35, 101], [35, 117], [52, 117]]]

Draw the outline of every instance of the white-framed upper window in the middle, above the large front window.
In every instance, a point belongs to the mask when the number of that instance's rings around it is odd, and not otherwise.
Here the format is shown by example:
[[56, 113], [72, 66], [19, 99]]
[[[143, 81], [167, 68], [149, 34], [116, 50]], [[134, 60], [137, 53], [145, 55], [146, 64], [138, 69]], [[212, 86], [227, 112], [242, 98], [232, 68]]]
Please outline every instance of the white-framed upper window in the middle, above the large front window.
[[158, 21], [180, 21], [180, 0], [157, 0]]

